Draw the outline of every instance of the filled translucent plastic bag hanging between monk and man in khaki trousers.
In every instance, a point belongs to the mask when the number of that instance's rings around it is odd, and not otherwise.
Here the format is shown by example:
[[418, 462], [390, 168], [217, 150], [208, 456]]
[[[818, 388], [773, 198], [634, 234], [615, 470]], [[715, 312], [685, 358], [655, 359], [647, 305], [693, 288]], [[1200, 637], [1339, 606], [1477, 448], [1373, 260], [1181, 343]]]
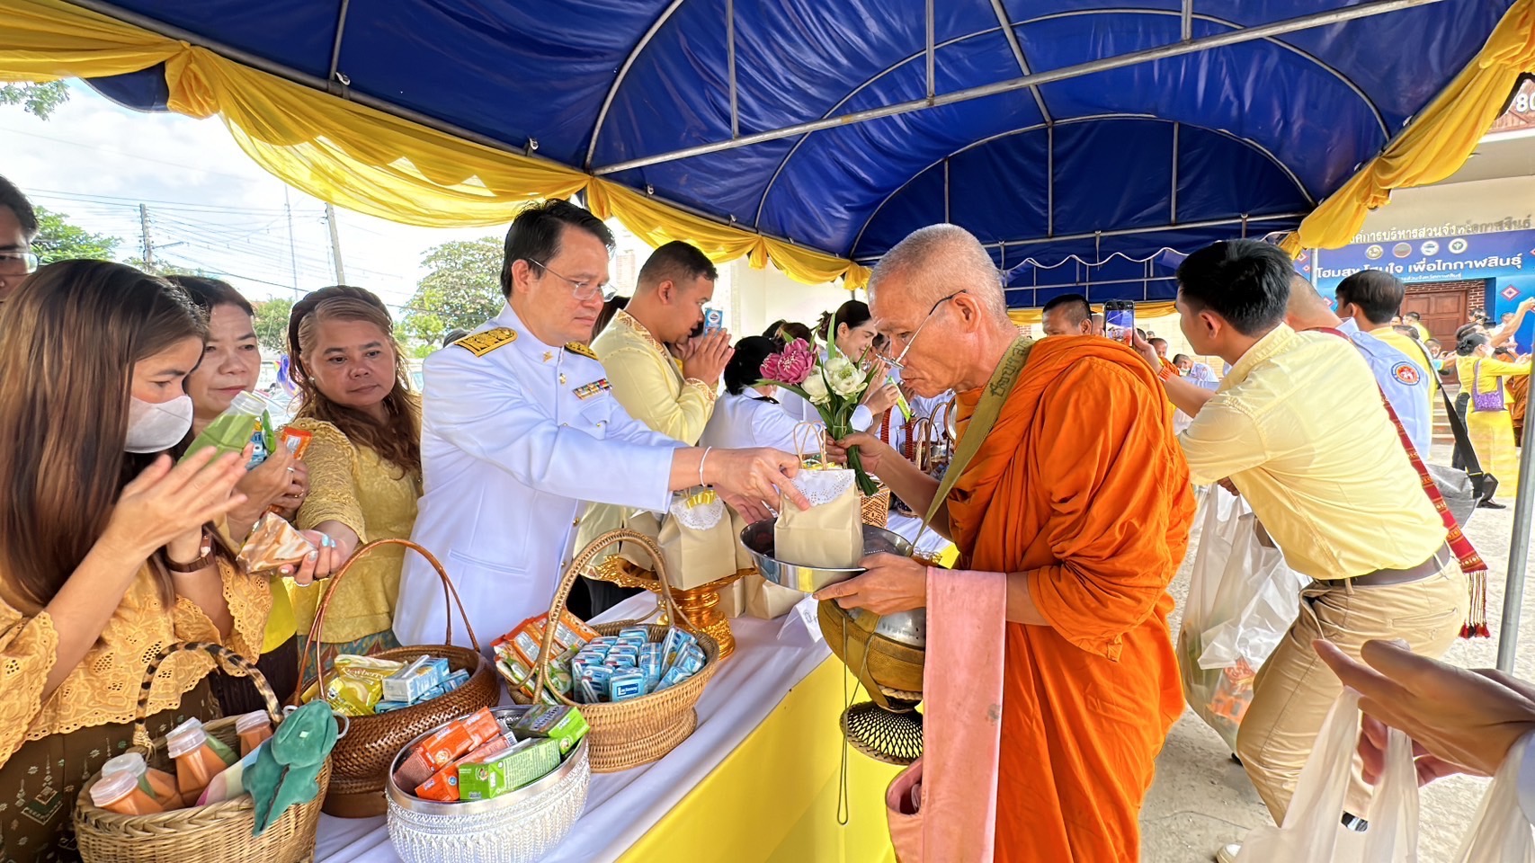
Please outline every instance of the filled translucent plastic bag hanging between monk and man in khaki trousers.
[[1177, 633], [1183, 699], [1226, 746], [1253, 702], [1253, 679], [1300, 610], [1305, 577], [1257, 539], [1242, 498], [1211, 488], [1200, 504], [1199, 551]]

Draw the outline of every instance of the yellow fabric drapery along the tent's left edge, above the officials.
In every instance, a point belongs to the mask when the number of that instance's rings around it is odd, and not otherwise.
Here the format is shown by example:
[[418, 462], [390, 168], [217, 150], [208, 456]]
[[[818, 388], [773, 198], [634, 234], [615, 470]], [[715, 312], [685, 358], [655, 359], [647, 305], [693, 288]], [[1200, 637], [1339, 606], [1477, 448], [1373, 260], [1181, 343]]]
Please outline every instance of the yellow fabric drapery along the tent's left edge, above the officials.
[[166, 63], [169, 107], [218, 115], [252, 160], [350, 210], [424, 227], [507, 224], [533, 200], [586, 192], [640, 238], [698, 243], [715, 263], [772, 261], [818, 284], [867, 267], [720, 224], [553, 161], [508, 154], [235, 63], [61, 0], [0, 0], [0, 81], [94, 78]]

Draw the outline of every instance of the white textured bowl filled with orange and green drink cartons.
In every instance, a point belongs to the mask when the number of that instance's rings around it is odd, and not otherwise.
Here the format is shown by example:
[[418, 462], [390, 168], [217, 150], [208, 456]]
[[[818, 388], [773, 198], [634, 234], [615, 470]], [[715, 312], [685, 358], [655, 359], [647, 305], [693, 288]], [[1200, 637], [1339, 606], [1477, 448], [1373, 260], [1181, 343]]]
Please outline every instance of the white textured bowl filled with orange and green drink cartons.
[[[473, 751], [453, 757], [465, 745]], [[479, 736], [476, 736], [476, 731]], [[507, 706], [459, 717], [410, 740], [390, 763], [388, 835], [405, 863], [533, 863], [586, 806], [586, 725], [574, 708]], [[431, 785], [411, 762], [445, 762]], [[450, 785], [448, 777], [456, 780]], [[439, 782], [433, 782], [442, 777]]]

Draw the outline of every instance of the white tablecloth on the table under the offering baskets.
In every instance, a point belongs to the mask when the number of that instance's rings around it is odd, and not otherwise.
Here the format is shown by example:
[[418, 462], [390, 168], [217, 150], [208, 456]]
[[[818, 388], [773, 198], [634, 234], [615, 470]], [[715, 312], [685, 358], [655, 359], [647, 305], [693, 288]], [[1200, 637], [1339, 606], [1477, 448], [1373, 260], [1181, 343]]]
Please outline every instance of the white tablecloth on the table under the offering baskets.
[[[626, 599], [599, 620], [654, 611], [655, 597]], [[623, 772], [593, 774], [586, 812], [545, 863], [617, 860], [694, 785], [709, 774], [768, 717], [789, 689], [830, 656], [791, 611], [778, 620], [737, 617], [735, 653], [698, 700], [698, 729], [662, 760]], [[817, 633], [818, 636], [818, 633]], [[594, 817], [596, 815], [596, 817]], [[319, 863], [396, 863], [384, 818], [321, 815], [315, 848]]]

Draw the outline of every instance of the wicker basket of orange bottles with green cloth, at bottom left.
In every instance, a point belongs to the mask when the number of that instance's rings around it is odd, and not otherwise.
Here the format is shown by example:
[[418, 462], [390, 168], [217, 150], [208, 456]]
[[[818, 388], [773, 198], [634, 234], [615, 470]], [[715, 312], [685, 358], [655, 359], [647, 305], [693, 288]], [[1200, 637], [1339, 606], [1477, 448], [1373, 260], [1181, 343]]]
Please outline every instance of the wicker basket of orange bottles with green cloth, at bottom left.
[[[267, 702], [269, 728], [282, 728], [284, 716], [278, 706], [278, 699], [267, 685], [266, 677], [256, 671], [255, 665], [239, 654], [213, 643], [189, 642], [166, 648], [144, 673], [146, 685], [138, 696], [138, 711], [134, 722], [134, 745], [118, 759], [112, 759], [89, 780], [80, 785], [80, 799], [75, 803], [75, 837], [80, 855], [86, 863], [223, 863], [239, 860], [243, 863], [305, 863], [315, 857], [315, 828], [319, 823], [321, 799], [330, 783], [330, 759], [322, 752], [315, 752], [307, 763], [307, 769], [315, 771], [313, 786], [298, 789], [292, 806], [266, 802], [269, 808], [261, 811], [256, 799], [249, 792], [232, 794], [216, 803], [195, 805], [195, 799], [172, 800], [177, 797], [177, 775], [181, 765], [172, 765], [170, 748], [172, 732], [167, 737], [149, 739], [144, 726], [144, 714], [149, 702], [149, 682], [155, 679], [160, 665], [180, 651], [207, 651], [213, 657], [232, 668], [243, 670]], [[322, 714], [324, 716], [324, 714]], [[204, 746], [216, 746], [221, 752], [239, 752], [241, 725], [250, 725], [250, 716], [220, 719], [201, 725], [195, 734], [204, 740]], [[335, 722], [324, 716], [324, 722]], [[193, 725], [193, 722], [187, 725]], [[183, 726], [184, 728], [184, 726]], [[178, 728], [177, 731], [181, 731]], [[332, 729], [333, 732], [333, 729]], [[247, 731], [249, 734], [249, 731]], [[107, 768], [124, 757], [141, 756], [138, 763], [138, 783], [146, 794], [155, 797], [164, 811], [150, 814], [123, 814], [97, 805], [101, 799], [97, 785], [106, 780], [118, 780], [129, 774], [112, 772]], [[215, 759], [218, 756], [213, 756]], [[324, 759], [322, 762], [319, 759]], [[178, 759], [180, 762], [180, 759]], [[316, 763], [319, 762], [319, 763]], [[112, 775], [107, 775], [112, 774]], [[158, 777], [158, 779], [157, 779]], [[173, 777], [173, 779], [172, 779]], [[161, 782], [169, 782], [163, 785]], [[95, 794], [92, 794], [95, 791]], [[249, 791], [249, 788], [247, 788]], [[305, 792], [312, 797], [305, 800]], [[109, 803], [111, 806], [112, 803]], [[158, 805], [155, 808], [158, 808]], [[143, 811], [143, 809], [140, 809]], [[259, 829], [259, 835], [255, 835]]]

